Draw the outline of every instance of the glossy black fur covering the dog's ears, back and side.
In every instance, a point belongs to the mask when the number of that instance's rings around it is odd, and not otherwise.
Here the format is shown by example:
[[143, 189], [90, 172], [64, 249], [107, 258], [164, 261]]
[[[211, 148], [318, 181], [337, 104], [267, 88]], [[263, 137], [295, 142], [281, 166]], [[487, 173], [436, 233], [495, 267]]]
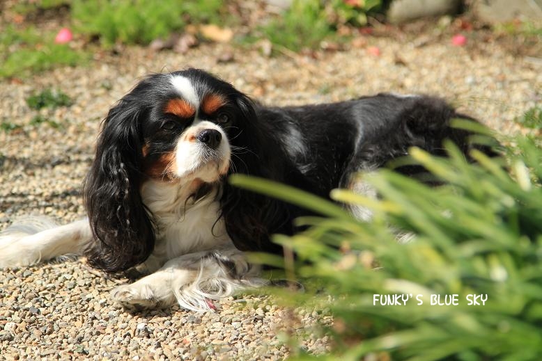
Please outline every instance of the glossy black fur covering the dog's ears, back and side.
[[[335, 104], [266, 107], [201, 70], [174, 74], [189, 78], [199, 95], [227, 97], [231, 123], [224, 130], [232, 145], [230, 175], [264, 177], [327, 197], [332, 188], [348, 186], [353, 173], [384, 166], [407, 154], [408, 147], [442, 155], [442, 141], [450, 138], [463, 152], [469, 149], [469, 133], [449, 127], [460, 115], [441, 99], [380, 94]], [[171, 119], [162, 109], [173, 96], [168, 74], [151, 75], [104, 120], [84, 185], [98, 240], [86, 252], [93, 266], [121, 271], [143, 262], [153, 250], [153, 216], [141, 202], [139, 186], [146, 164], [171, 151], [192, 121], [164, 129]], [[141, 152], [144, 145], [147, 154]], [[413, 174], [419, 169], [401, 171]], [[270, 235], [292, 234], [293, 218], [308, 213], [227, 182], [221, 186], [226, 230], [240, 250], [279, 252]]]

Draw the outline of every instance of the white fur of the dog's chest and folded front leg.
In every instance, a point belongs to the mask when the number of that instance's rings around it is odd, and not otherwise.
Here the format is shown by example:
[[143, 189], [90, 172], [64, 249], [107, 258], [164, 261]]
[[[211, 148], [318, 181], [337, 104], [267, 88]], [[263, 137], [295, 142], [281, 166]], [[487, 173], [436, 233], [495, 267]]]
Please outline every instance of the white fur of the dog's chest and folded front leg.
[[[197, 181], [196, 181], [197, 182]], [[141, 189], [145, 204], [157, 220], [151, 257], [137, 267], [150, 275], [117, 287], [111, 296], [127, 308], [168, 306], [177, 302], [187, 310], [212, 310], [209, 300], [229, 296], [247, 286], [262, 284], [243, 253], [229, 238], [219, 217], [216, 188], [200, 200], [187, 197], [191, 182], [165, 184], [148, 181]], [[214, 257], [235, 264], [233, 278]], [[157, 269], [157, 266], [161, 266]]]

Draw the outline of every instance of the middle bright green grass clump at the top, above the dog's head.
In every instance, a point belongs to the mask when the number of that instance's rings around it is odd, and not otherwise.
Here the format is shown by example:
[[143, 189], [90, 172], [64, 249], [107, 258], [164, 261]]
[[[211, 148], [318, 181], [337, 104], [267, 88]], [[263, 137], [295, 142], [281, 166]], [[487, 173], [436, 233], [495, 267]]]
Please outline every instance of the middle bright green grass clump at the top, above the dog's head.
[[76, 29], [97, 36], [103, 45], [146, 45], [187, 23], [215, 21], [222, 8], [222, 0], [73, 0], [71, 13]]

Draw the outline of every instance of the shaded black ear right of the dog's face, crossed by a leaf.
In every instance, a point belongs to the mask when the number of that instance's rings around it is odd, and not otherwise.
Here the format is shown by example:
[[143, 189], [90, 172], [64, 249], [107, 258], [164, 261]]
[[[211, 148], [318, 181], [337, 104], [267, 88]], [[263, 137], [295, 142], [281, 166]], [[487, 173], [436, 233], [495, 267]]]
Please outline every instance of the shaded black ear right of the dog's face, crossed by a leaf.
[[[277, 144], [269, 136], [267, 125], [261, 122], [249, 97], [238, 95], [239, 114], [236, 134], [231, 136], [232, 157], [229, 175], [242, 173], [284, 182], [284, 159]], [[265, 134], [267, 132], [267, 134]], [[226, 182], [222, 193], [222, 216], [226, 230], [240, 250], [277, 252], [280, 247], [270, 241], [274, 233], [292, 232], [292, 207], [284, 202], [231, 186]]]

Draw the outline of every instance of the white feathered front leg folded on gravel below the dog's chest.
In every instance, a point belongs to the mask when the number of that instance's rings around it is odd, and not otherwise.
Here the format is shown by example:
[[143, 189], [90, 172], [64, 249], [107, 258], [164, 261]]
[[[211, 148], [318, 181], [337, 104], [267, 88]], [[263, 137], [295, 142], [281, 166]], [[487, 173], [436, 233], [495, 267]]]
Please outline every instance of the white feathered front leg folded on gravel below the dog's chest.
[[259, 268], [247, 262], [233, 246], [183, 255], [164, 264], [137, 282], [114, 289], [112, 298], [128, 310], [169, 307], [178, 303], [187, 310], [212, 310], [210, 300], [231, 296], [244, 287], [264, 282]]

